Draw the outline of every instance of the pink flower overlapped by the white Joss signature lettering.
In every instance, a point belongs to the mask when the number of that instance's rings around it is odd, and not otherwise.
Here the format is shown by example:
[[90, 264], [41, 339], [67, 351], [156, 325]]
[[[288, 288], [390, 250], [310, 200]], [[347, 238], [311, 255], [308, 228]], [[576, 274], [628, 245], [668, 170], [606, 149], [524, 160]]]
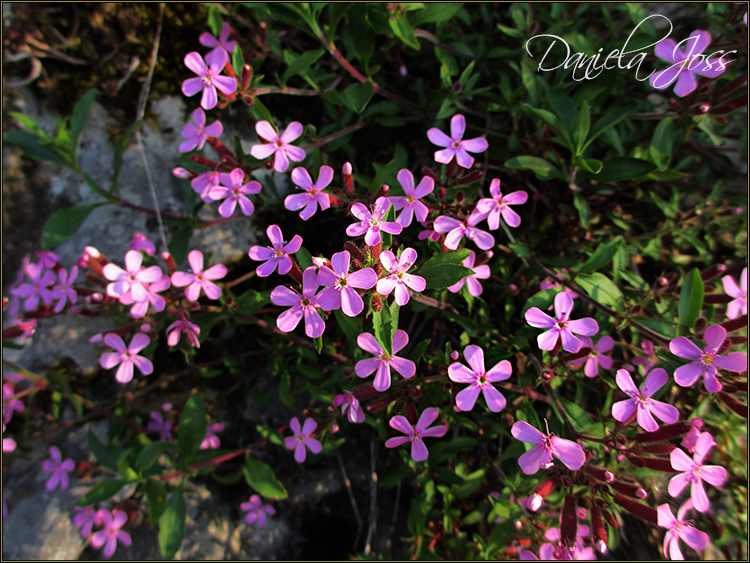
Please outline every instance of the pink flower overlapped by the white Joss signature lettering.
[[[679, 48], [679, 45], [685, 41], [690, 42], [690, 49], [687, 53]], [[716, 78], [722, 74], [726, 70], [727, 63], [723, 60], [719, 62], [720, 59], [705, 60], [706, 56], [702, 55], [710, 43], [711, 34], [699, 29], [691, 33], [688, 39], [680, 41], [679, 45], [674, 42], [674, 39], [665, 39], [658, 43], [654, 48], [656, 56], [673, 64], [665, 70], [652, 74], [649, 79], [651, 86], [657, 90], [664, 90], [676, 80], [674, 93], [682, 98], [698, 87], [696, 74], [707, 78]]]

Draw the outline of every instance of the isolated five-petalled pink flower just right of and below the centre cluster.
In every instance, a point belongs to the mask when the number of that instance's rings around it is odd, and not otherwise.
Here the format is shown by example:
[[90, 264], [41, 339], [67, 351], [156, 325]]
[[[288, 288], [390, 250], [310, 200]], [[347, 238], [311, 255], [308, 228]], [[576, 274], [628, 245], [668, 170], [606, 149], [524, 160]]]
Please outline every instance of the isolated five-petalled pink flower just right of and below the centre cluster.
[[471, 369], [458, 362], [448, 367], [448, 377], [456, 383], [471, 383], [469, 387], [456, 395], [456, 405], [462, 411], [470, 411], [481, 391], [487, 407], [492, 412], [500, 412], [505, 408], [505, 397], [492, 386], [495, 381], [504, 381], [511, 376], [511, 368], [508, 360], [496, 364], [489, 371], [484, 370], [484, 351], [479, 346], [467, 346], [464, 357], [469, 362]]

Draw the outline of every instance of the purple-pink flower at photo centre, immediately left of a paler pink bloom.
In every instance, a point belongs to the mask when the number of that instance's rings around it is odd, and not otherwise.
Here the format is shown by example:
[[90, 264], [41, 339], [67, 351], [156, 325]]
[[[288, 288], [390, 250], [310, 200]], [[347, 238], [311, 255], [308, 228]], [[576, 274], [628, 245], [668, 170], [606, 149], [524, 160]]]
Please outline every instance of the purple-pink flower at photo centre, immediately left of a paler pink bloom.
[[318, 295], [318, 305], [325, 311], [341, 308], [348, 317], [356, 317], [365, 304], [357, 289], [370, 289], [378, 283], [378, 275], [372, 268], [362, 268], [349, 273], [349, 252], [337, 252], [331, 258], [331, 268], [321, 266], [318, 283], [326, 287]]

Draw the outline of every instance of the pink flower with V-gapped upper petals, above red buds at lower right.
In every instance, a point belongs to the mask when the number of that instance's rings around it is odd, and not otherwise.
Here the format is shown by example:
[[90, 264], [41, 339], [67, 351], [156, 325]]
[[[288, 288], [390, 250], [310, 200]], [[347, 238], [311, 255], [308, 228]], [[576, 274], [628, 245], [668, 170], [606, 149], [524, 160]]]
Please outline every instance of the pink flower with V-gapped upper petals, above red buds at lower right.
[[677, 422], [677, 419], [680, 417], [680, 411], [672, 405], [651, 398], [651, 395], [656, 393], [656, 391], [669, 381], [667, 372], [662, 368], [651, 370], [646, 377], [646, 381], [643, 383], [641, 391], [638, 390], [630, 374], [624, 369], [617, 370], [616, 381], [617, 386], [631, 398], [612, 405], [612, 416], [615, 420], [624, 422], [637, 412], [638, 426], [646, 432], [655, 432], [659, 429], [654, 416], [667, 424]]

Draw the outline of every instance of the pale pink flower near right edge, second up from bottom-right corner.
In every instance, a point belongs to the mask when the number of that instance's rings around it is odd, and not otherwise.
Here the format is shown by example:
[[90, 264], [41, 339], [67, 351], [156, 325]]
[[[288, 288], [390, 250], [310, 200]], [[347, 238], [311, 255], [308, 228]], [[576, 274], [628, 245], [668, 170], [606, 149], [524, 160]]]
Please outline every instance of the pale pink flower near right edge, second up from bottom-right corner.
[[672, 495], [672, 498], [677, 498], [688, 483], [691, 483], [690, 498], [693, 499], [693, 505], [699, 512], [706, 512], [711, 507], [706, 496], [706, 490], [703, 488], [703, 481], [714, 487], [721, 487], [727, 480], [727, 470], [723, 467], [703, 465], [703, 459], [715, 443], [713, 436], [704, 432], [695, 444], [693, 459], [690, 459], [679, 448], [672, 450], [669, 457], [672, 468], [682, 472], [669, 481], [669, 494]]

